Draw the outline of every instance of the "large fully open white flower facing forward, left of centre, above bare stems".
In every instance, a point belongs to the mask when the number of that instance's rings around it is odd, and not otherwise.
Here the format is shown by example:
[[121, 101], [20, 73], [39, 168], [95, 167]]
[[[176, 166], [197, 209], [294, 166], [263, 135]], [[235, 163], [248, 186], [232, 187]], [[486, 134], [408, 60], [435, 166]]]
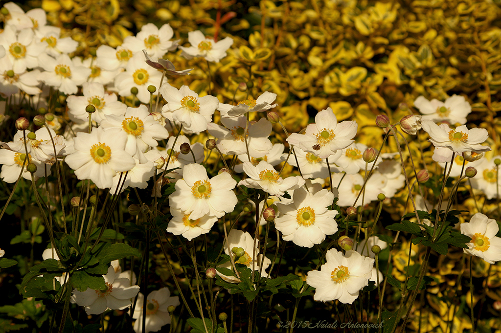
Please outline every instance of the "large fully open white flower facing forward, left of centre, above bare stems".
[[75, 152], [65, 161], [78, 179], [90, 179], [98, 188], [109, 188], [117, 172], [129, 171], [136, 165], [124, 150], [126, 140], [127, 135], [115, 128], [93, 128], [90, 134], [79, 132], [74, 139]]

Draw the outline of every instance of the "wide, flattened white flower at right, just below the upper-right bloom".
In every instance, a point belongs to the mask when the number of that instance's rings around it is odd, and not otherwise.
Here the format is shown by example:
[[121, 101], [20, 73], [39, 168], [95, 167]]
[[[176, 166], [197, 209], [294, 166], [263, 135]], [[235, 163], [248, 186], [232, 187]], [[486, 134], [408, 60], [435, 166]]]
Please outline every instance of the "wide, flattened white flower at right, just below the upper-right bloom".
[[431, 120], [423, 120], [421, 125], [430, 136], [429, 141], [435, 147], [447, 147], [458, 154], [464, 151], [485, 152], [491, 150], [490, 147], [480, 144], [488, 138], [487, 130], [484, 128], [468, 130], [465, 125], [462, 125], [453, 130], [447, 124], [437, 126]]

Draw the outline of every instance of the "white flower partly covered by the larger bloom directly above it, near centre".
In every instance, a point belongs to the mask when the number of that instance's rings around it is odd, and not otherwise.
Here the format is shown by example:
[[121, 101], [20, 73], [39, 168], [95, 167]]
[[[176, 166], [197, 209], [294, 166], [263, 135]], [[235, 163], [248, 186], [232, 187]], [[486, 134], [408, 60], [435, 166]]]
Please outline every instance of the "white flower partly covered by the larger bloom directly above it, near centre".
[[190, 212], [185, 213], [178, 209], [171, 209], [172, 219], [167, 226], [167, 232], [182, 235], [187, 240], [192, 240], [202, 234], [208, 233], [217, 222], [217, 217], [204, 215], [197, 219], [190, 219]]

